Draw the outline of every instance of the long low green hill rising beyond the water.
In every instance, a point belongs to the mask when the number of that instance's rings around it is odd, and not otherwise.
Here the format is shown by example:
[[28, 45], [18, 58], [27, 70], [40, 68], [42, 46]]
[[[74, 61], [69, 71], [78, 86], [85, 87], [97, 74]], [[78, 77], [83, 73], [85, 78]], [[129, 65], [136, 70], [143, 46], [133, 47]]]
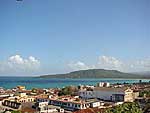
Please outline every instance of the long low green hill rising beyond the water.
[[149, 76], [123, 73], [117, 70], [89, 69], [66, 74], [42, 75], [40, 78], [150, 78]]

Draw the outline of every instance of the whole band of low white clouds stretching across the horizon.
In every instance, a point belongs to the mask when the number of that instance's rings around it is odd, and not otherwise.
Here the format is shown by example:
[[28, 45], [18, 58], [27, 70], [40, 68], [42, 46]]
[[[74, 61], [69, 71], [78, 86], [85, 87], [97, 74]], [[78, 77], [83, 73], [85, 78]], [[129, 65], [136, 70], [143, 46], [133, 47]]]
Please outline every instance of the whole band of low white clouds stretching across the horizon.
[[[42, 73], [51, 73], [49, 66], [41, 66], [40, 61], [29, 56], [27, 58], [21, 55], [13, 55], [5, 61], [0, 61], [0, 75], [38, 75]], [[150, 71], [150, 58], [124, 61], [112, 56], [99, 56], [95, 64], [89, 65], [83, 61], [70, 62], [62, 68], [66, 71], [86, 70], [86, 69], [108, 69], [119, 70], [122, 72], [143, 72]], [[55, 73], [62, 73], [59, 69]], [[63, 72], [65, 73], [65, 72]]]

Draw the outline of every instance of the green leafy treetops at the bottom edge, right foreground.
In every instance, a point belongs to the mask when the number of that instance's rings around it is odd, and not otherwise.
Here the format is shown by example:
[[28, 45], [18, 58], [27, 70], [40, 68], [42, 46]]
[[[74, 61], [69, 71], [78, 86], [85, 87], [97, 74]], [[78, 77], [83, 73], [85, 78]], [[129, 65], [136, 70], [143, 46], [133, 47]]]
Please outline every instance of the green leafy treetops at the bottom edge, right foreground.
[[143, 113], [137, 103], [124, 103], [122, 105], [109, 108], [105, 113]]

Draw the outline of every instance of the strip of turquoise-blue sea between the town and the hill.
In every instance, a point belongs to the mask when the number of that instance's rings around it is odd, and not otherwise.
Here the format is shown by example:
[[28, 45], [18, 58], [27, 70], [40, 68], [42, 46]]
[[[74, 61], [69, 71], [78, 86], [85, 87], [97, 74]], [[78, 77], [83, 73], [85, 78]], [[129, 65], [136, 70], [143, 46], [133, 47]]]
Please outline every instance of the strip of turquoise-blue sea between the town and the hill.
[[14, 88], [17, 85], [26, 86], [27, 89], [32, 88], [62, 88], [68, 85], [96, 85], [98, 82], [110, 82], [110, 83], [135, 83], [142, 80], [143, 82], [149, 82], [148, 79], [48, 79], [48, 78], [33, 78], [33, 77], [0, 77], [0, 87]]

